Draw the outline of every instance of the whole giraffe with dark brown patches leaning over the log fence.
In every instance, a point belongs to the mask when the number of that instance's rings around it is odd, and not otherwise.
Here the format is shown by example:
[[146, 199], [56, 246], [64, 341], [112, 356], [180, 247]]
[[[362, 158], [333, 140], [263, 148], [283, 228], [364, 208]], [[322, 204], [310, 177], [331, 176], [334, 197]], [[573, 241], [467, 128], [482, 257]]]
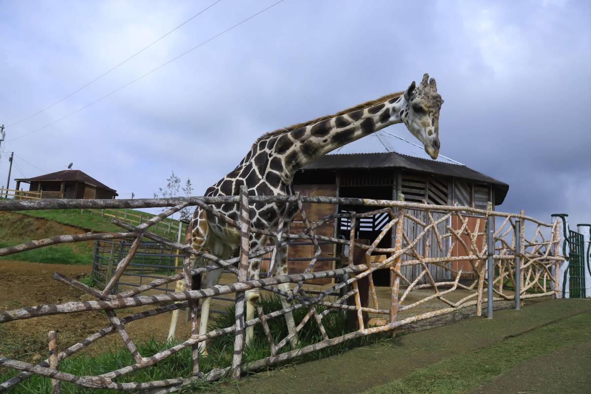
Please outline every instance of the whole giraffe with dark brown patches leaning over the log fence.
[[[434, 79], [429, 80], [424, 74], [418, 86], [410, 84], [403, 92], [392, 93], [379, 97], [335, 115], [323, 116], [313, 121], [299, 123], [284, 129], [265, 133], [252, 145], [242, 161], [228, 175], [208, 188], [205, 196], [237, 196], [240, 187], [246, 185], [249, 196], [291, 195], [291, 181], [294, 174], [308, 162], [319, 158], [333, 149], [349, 142], [374, 133], [395, 123], [404, 123], [407, 129], [424, 145], [431, 158], [439, 155], [439, 112], [443, 100], [437, 93]], [[212, 206], [238, 222], [238, 204]], [[249, 206], [251, 226], [258, 229], [277, 232], [280, 219], [284, 226], [290, 223], [297, 211], [296, 204], [255, 203]], [[230, 258], [237, 250], [240, 242], [239, 230], [219, 220], [213, 214], [197, 207], [194, 211], [186, 233], [187, 242], [197, 250], [204, 250], [221, 259]], [[251, 252], [265, 248], [268, 237], [250, 234]], [[193, 266], [195, 261], [192, 262]], [[251, 259], [248, 276], [259, 279], [261, 259]], [[277, 258], [270, 275], [287, 273], [287, 246], [277, 251]], [[203, 278], [204, 288], [215, 286], [219, 282], [222, 269], [207, 272]], [[194, 278], [194, 282], [201, 282]], [[288, 291], [289, 284], [281, 284], [279, 288]], [[184, 282], [178, 281], [176, 291], [184, 290]], [[246, 291], [246, 320], [254, 317], [255, 302], [259, 298], [259, 289]], [[199, 334], [207, 332], [211, 298], [203, 301], [199, 322]], [[282, 306], [288, 307], [287, 299], [281, 298]], [[178, 310], [173, 312], [168, 337], [174, 337]], [[291, 312], [285, 314], [288, 331], [293, 333], [295, 323]], [[245, 343], [251, 341], [253, 327], [246, 329]], [[297, 336], [291, 340], [297, 346]], [[206, 343], [199, 343], [200, 351], [206, 352]]]

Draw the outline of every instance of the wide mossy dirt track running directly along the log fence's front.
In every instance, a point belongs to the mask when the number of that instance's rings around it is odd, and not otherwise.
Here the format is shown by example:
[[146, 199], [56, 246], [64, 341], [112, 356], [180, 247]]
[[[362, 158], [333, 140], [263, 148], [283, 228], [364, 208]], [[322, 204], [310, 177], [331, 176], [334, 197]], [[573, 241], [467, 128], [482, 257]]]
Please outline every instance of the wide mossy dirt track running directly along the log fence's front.
[[[489, 346], [556, 319], [591, 312], [586, 300], [525, 305], [521, 311], [496, 311], [492, 320], [469, 318], [398, 340], [353, 349], [339, 356], [258, 373], [218, 393], [360, 393], [407, 376], [421, 367]], [[510, 393], [510, 392], [506, 392]]]

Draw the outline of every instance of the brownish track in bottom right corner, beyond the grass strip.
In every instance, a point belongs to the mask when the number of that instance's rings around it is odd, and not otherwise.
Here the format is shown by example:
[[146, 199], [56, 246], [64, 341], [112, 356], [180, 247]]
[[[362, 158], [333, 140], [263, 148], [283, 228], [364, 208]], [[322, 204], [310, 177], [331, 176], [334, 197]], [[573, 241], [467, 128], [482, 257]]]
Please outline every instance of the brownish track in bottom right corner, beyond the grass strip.
[[579, 394], [590, 388], [591, 342], [586, 342], [519, 364], [469, 394]]

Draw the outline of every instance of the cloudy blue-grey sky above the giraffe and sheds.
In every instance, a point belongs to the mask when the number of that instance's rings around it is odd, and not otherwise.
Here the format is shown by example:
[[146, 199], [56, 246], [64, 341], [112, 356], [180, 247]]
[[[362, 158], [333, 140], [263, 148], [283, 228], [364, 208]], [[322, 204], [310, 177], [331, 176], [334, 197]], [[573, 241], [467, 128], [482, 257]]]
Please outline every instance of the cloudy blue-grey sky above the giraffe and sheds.
[[428, 72], [445, 100], [441, 154], [508, 183], [498, 210], [591, 222], [591, 2], [285, 0], [204, 43], [275, 1], [222, 0], [19, 122], [215, 0], [0, 0], [12, 178], [73, 162], [121, 198], [152, 197], [174, 170], [201, 195], [262, 133]]

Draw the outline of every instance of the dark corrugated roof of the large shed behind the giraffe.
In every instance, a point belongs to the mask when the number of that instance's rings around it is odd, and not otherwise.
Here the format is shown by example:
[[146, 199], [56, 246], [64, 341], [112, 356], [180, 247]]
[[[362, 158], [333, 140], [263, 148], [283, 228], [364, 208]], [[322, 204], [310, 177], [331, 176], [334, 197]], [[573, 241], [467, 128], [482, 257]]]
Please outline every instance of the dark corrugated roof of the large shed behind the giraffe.
[[402, 168], [402, 170], [427, 172], [428, 174], [489, 183], [495, 189], [496, 205], [502, 203], [509, 190], [508, 184], [482, 174], [482, 172], [472, 170], [472, 168], [466, 167], [465, 165], [423, 159], [396, 152], [325, 155], [305, 165], [303, 170], [369, 170], [371, 168]]

